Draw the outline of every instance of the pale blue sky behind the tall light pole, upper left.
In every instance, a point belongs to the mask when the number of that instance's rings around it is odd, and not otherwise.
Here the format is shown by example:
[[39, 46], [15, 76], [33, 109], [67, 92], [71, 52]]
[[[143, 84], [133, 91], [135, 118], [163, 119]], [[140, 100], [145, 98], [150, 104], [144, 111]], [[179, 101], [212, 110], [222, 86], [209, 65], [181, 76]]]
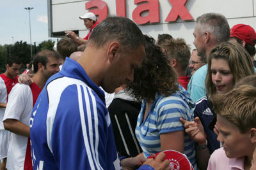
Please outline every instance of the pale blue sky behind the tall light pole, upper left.
[[29, 39], [29, 17], [26, 7], [33, 7], [31, 17], [32, 43], [56, 38], [48, 37], [47, 0], [1, 0], [0, 4], [0, 45], [12, 44]]

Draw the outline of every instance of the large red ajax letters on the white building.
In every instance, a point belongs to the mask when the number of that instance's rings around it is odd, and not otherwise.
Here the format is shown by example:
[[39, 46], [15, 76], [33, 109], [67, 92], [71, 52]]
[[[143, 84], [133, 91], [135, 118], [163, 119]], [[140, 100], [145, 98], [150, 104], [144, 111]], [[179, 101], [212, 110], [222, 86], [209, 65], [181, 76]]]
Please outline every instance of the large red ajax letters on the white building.
[[[116, 15], [126, 17], [126, 0], [116, 1]], [[163, 1], [163, 0], [161, 0]], [[193, 20], [185, 4], [188, 0], [165, 0], [172, 4], [165, 22], [173, 22], [180, 17], [182, 20]], [[137, 24], [157, 23], [159, 17], [158, 0], [134, 0], [137, 7], [132, 11], [132, 20]], [[85, 9], [99, 16], [99, 22], [108, 17], [108, 4], [102, 0], [92, 0], [85, 3]], [[148, 11], [147, 16], [141, 16], [141, 13]]]

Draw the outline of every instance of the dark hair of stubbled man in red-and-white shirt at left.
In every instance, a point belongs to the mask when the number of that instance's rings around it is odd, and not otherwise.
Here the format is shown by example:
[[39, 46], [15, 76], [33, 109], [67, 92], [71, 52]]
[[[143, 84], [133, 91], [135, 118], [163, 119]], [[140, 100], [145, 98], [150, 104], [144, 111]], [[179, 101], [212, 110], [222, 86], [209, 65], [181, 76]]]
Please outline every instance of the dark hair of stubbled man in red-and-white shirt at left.
[[61, 55], [58, 52], [53, 52], [51, 50], [42, 50], [41, 52], [36, 53], [33, 57], [33, 67], [34, 73], [38, 71], [38, 63], [42, 63], [46, 68], [48, 62], [48, 57], [54, 57], [55, 59], [60, 59]]

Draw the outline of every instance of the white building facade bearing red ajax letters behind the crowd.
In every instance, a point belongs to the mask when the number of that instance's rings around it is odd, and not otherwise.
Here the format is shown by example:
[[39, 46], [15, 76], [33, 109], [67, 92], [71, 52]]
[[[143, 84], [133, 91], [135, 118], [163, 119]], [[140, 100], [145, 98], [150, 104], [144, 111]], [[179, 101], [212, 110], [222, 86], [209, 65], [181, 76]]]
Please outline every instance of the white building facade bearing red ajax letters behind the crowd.
[[64, 36], [75, 31], [84, 38], [88, 30], [79, 19], [88, 11], [99, 20], [107, 16], [130, 18], [144, 34], [157, 38], [168, 33], [184, 38], [191, 48], [195, 20], [204, 13], [223, 14], [230, 25], [248, 24], [256, 28], [256, 0], [48, 0], [49, 36]]

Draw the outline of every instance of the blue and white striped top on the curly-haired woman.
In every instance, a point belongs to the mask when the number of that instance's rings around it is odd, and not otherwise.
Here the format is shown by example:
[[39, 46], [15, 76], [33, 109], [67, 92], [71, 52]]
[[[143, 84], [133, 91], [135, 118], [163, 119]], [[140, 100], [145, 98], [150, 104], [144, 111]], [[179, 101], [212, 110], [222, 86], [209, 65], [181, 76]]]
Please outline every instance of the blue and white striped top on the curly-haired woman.
[[[183, 87], [179, 87], [178, 91], [167, 97], [156, 94], [155, 101], [144, 122], [147, 101], [143, 100], [135, 132], [144, 157], [149, 157], [150, 153], [161, 152], [160, 134], [184, 131], [180, 117], [188, 121], [193, 120], [191, 108], [195, 106], [195, 103], [189, 98], [188, 92]], [[194, 141], [189, 139], [188, 134], [185, 133], [184, 153], [194, 169], [197, 169], [194, 146]]]

